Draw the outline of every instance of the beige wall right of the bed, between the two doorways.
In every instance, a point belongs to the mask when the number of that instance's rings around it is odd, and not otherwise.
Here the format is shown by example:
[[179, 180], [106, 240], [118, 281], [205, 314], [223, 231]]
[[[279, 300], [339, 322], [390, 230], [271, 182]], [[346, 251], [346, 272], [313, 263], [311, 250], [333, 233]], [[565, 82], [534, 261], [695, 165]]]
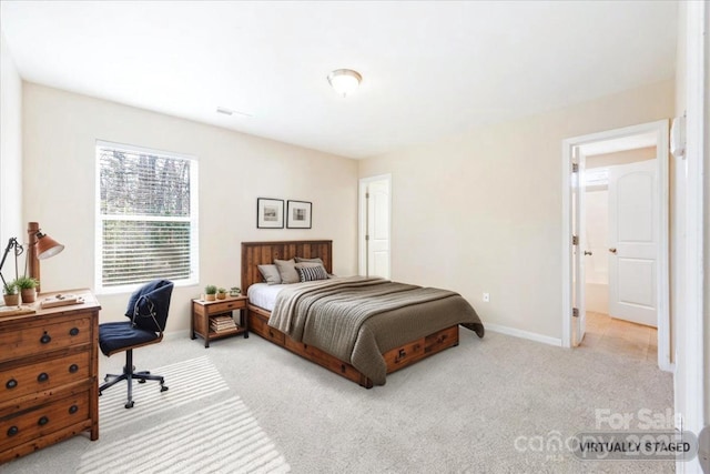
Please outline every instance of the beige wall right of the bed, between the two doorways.
[[673, 94], [668, 80], [362, 161], [361, 178], [393, 177], [393, 279], [561, 339], [561, 142], [672, 117]]

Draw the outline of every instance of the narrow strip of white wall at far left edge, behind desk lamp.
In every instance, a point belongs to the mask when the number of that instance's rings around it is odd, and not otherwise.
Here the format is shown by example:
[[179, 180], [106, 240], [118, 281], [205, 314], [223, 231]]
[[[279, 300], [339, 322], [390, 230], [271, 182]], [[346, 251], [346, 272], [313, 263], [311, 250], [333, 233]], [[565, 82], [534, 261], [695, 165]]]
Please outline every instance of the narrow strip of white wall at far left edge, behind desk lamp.
[[[0, 31], [0, 250], [4, 250], [12, 236], [20, 242], [27, 240], [21, 203], [22, 80]], [[6, 262], [6, 280], [14, 279], [10, 266], [10, 262]]]

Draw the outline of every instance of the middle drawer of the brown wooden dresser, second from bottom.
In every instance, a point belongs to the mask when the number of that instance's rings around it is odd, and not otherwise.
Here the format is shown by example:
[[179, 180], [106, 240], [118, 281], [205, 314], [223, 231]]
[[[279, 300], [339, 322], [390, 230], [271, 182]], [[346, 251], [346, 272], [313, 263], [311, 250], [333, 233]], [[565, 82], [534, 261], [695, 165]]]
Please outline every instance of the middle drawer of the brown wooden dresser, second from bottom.
[[47, 392], [90, 376], [91, 353], [78, 352], [63, 357], [34, 362], [0, 372], [0, 405], [32, 393]]

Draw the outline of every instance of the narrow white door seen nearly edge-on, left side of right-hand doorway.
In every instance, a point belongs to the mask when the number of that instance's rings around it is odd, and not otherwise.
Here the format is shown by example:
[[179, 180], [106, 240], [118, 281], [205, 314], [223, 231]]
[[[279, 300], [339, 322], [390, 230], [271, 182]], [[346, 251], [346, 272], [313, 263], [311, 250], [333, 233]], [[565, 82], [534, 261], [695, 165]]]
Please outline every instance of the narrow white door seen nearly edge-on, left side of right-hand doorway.
[[579, 147], [572, 151], [575, 155], [575, 163], [577, 164], [577, 172], [572, 173], [572, 229], [575, 230], [574, 238], [577, 240], [577, 244], [572, 245], [572, 265], [575, 269], [574, 279], [575, 288], [572, 292], [572, 306], [577, 312], [574, 321], [574, 345], [581, 344], [585, 339], [586, 323], [587, 323], [587, 303], [585, 302], [585, 284], [587, 276], [585, 274], [585, 250], [587, 249], [587, 215], [585, 212], [585, 168], [586, 159], [581, 153]]

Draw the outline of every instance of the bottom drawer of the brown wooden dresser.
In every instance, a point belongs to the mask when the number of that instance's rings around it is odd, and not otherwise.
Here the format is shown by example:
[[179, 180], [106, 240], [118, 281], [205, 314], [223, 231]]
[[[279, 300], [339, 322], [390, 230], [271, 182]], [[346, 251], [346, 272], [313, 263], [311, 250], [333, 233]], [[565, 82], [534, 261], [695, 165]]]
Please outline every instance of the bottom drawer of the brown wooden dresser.
[[0, 417], [0, 451], [85, 422], [90, 418], [89, 396], [84, 391]]

